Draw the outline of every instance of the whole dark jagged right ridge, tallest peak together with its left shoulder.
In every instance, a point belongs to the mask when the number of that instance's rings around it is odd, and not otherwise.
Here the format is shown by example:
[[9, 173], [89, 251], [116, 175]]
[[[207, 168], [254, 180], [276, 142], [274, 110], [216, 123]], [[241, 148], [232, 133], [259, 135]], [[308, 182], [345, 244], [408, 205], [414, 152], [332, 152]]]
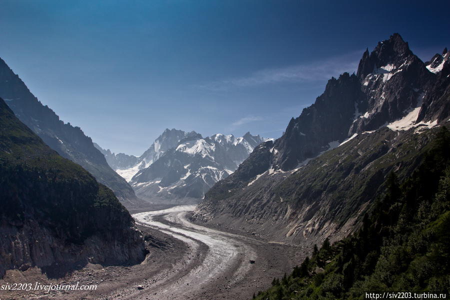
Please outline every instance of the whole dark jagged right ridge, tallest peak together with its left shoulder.
[[[398, 33], [392, 34], [371, 52], [364, 51], [356, 74], [344, 72], [328, 80], [315, 102], [290, 119], [273, 149], [264, 155], [269, 157], [264, 165], [283, 171], [297, 168], [349, 136], [376, 130], [410, 111], [416, 113], [433, 80], [408, 43]], [[413, 118], [416, 122], [416, 115]]]

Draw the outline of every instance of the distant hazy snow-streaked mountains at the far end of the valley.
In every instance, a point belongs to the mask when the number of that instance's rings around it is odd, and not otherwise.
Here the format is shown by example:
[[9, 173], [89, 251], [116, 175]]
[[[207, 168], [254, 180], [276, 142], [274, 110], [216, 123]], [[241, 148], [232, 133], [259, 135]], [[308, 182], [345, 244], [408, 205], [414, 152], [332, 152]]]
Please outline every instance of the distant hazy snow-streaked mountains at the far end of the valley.
[[263, 142], [249, 132], [242, 137], [165, 129], [139, 157], [98, 149], [137, 196], [173, 203], [198, 202], [218, 180], [232, 173]]

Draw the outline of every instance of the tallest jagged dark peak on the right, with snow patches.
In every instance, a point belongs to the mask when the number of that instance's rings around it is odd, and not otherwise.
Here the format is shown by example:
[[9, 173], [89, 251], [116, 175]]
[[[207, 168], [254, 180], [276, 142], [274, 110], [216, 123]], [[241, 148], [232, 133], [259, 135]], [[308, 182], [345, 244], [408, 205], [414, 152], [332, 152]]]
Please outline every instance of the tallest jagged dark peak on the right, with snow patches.
[[350, 134], [376, 130], [420, 107], [436, 77], [409, 50], [399, 34], [379, 42], [370, 54], [366, 50], [359, 62], [357, 76], [368, 109], [361, 111]]

